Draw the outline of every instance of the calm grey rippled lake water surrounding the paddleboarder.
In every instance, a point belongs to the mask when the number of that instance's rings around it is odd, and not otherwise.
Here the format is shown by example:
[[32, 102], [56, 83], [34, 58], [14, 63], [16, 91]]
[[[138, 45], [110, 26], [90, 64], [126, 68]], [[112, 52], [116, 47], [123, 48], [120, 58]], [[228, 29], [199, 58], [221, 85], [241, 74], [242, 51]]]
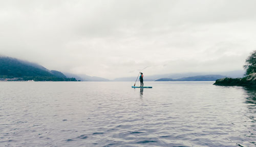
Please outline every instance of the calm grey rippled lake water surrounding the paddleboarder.
[[214, 82], [0, 82], [0, 146], [255, 146], [256, 90]]

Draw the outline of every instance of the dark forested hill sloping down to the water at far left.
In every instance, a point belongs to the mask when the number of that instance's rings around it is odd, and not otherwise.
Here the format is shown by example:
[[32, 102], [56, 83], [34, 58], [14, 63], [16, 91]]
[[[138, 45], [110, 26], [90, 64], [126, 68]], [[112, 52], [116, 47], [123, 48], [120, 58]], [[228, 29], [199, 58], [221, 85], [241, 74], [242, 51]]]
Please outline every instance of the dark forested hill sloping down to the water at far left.
[[18, 78], [15, 81], [76, 81], [75, 78], [67, 78], [60, 71], [10, 57], [0, 57], [0, 78]]

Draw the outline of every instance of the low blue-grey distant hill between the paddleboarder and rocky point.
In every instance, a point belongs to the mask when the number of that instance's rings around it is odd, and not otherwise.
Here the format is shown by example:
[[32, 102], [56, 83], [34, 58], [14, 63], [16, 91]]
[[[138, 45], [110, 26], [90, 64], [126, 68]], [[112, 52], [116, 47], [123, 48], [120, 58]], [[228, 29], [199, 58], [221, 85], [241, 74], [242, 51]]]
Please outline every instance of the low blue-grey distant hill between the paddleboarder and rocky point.
[[184, 77], [179, 79], [161, 78], [155, 81], [216, 81], [217, 79], [226, 78], [222, 75], [202, 75], [194, 77]]

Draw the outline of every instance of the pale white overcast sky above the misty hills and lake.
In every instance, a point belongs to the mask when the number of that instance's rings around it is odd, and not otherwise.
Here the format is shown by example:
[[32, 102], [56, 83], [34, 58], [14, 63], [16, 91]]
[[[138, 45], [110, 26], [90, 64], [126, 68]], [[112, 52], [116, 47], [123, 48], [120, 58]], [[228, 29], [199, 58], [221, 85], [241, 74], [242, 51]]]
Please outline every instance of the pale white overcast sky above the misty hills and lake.
[[2, 1], [0, 54], [103, 78], [242, 69], [256, 1]]

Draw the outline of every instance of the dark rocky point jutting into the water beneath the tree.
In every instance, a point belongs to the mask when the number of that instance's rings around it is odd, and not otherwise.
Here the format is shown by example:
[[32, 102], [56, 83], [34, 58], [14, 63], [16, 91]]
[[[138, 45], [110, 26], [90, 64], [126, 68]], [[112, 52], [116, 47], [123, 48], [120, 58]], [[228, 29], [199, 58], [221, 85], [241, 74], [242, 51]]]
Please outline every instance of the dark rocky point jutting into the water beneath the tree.
[[256, 87], [256, 72], [250, 74], [244, 78], [222, 78], [216, 80], [214, 85], [219, 86], [245, 86], [245, 87]]

